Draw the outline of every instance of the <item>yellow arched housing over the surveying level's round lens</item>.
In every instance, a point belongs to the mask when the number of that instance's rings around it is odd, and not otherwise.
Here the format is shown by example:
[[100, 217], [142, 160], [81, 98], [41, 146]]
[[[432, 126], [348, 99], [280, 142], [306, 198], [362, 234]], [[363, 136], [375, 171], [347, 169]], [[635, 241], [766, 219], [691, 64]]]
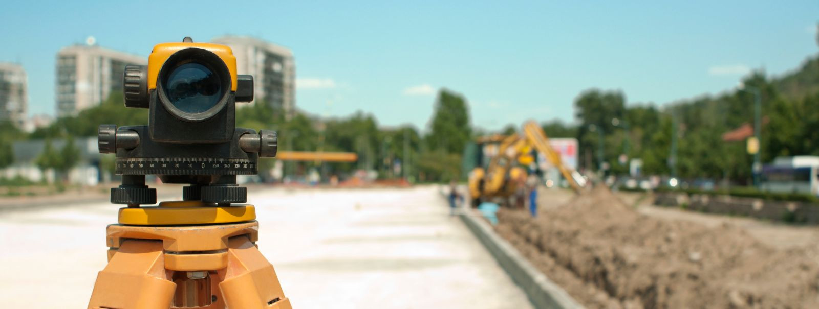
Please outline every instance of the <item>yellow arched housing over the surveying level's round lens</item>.
[[165, 61], [177, 51], [186, 48], [201, 48], [213, 52], [219, 59], [224, 61], [230, 72], [230, 91], [236, 91], [236, 56], [230, 47], [213, 43], [159, 43], [154, 46], [151, 56], [148, 56], [148, 91], [156, 89], [156, 81], [159, 78], [159, 71]]

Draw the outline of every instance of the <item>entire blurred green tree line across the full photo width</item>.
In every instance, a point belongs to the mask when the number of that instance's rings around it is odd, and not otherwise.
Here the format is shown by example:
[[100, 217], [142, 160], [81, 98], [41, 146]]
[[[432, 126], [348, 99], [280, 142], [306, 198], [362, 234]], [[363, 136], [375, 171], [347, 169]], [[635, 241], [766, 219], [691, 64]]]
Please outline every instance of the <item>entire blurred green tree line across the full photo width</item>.
[[[819, 60], [808, 59], [800, 69], [781, 78], [769, 78], [762, 71], [743, 79], [744, 90], [734, 89], [717, 95], [699, 96], [658, 106], [653, 103], [627, 102], [619, 90], [592, 88], [581, 92], [573, 102], [572, 123], [558, 120], [542, 123], [550, 137], [577, 138], [579, 167], [609, 174], [627, 172], [621, 157], [643, 160], [649, 175], [708, 177], [740, 184], [752, 177], [753, 158], [744, 141], [727, 142], [722, 134], [753, 125], [753, 89], [761, 98], [764, 121], [761, 129], [762, 162], [776, 156], [819, 155]], [[112, 93], [106, 101], [71, 117], [57, 119], [50, 126], [25, 134], [11, 123], [0, 123], [0, 167], [13, 162], [11, 143], [25, 139], [70, 139], [96, 137], [100, 123], [139, 125], [147, 123], [147, 110], [126, 109], [122, 94]], [[547, 118], [549, 115], [533, 115]], [[615, 120], [616, 119], [616, 120]], [[521, 123], [510, 123], [501, 133], [516, 132]], [[461, 162], [464, 149], [475, 137], [488, 134], [470, 123], [466, 98], [441, 89], [427, 130], [412, 125], [379, 128], [372, 114], [357, 112], [348, 117], [320, 119], [297, 111], [292, 117], [282, 110], [257, 101], [237, 110], [237, 126], [271, 128], [278, 131], [279, 150], [355, 152], [355, 163], [285, 163], [286, 174], [304, 174], [319, 168], [325, 175], [349, 175], [357, 169], [375, 170], [379, 177], [403, 177], [396, 165], [409, 165], [416, 181], [448, 181], [464, 175]], [[57, 157], [75, 158], [72, 149]], [[38, 159], [42, 168], [66, 169], [71, 163]], [[50, 157], [50, 156], [48, 156]], [[106, 164], [112, 160], [103, 159]], [[263, 160], [263, 169], [272, 166]]]

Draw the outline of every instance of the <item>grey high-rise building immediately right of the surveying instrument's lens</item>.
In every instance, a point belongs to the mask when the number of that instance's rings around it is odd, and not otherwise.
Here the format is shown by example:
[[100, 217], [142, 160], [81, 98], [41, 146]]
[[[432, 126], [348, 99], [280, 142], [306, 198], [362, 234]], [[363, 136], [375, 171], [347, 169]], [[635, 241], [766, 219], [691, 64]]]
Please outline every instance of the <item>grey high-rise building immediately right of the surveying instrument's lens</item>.
[[287, 47], [258, 38], [223, 36], [213, 43], [233, 49], [238, 74], [253, 75], [253, 95], [256, 101], [283, 110], [289, 119], [296, 109], [296, 61]]

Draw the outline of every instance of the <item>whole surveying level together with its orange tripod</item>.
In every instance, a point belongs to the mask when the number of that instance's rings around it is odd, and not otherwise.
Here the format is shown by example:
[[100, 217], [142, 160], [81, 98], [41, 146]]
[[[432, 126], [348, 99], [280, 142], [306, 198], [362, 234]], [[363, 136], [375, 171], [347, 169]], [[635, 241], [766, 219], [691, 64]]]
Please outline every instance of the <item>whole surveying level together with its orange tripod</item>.
[[[290, 309], [273, 266], [256, 248], [259, 223], [237, 175], [274, 157], [276, 132], [235, 128], [236, 102], [253, 101], [253, 78], [236, 74], [230, 47], [156, 45], [148, 65], [124, 72], [125, 106], [150, 110], [147, 126], [99, 128], [99, 150], [116, 154], [120, 208], [106, 229], [108, 264], [90, 309]], [[156, 206], [146, 175], [187, 184], [183, 200]]]

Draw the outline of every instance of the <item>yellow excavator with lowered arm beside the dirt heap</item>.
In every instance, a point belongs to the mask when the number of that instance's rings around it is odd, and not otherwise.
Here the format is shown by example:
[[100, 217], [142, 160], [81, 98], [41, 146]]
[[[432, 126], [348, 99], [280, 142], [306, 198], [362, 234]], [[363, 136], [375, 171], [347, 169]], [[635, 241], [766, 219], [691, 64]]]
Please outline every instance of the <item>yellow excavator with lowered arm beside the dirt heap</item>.
[[[499, 144], [486, 168], [478, 166], [469, 173], [468, 189], [473, 206], [483, 201], [500, 199], [501, 204], [509, 203], [527, 178], [527, 166], [535, 162], [532, 150], [544, 154], [546, 159], [558, 168], [575, 192], [580, 192], [586, 180], [580, 173], [568, 168], [560, 159], [560, 154], [549, 144], [549, 137], [534, 121], [523, 124], [523, 134], [509, 136], [492, 135], [479, 137], [478, 146]], [[509, 203], [511, 204], [511, 203]]]

